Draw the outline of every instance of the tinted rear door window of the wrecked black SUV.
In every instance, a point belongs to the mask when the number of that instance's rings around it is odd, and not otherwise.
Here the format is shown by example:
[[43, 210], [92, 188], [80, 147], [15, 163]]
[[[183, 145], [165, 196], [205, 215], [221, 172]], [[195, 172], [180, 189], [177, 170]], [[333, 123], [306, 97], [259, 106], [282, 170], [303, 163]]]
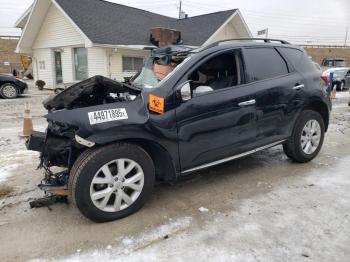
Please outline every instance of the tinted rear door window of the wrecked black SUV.
[[245, 59], [253, 81], [288, 74], [286, 62], [274, 48], [248, 48]]

